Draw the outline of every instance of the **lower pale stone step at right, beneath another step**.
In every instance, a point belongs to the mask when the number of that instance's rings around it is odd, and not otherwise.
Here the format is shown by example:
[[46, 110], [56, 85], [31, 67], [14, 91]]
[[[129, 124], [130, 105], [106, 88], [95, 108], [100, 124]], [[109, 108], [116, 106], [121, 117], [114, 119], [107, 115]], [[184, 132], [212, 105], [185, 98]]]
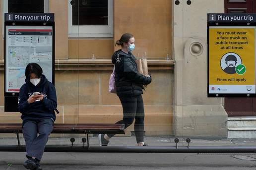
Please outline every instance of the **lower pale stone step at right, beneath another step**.
[[256, 138], [256, 127], [228, 127], [228, 138]]

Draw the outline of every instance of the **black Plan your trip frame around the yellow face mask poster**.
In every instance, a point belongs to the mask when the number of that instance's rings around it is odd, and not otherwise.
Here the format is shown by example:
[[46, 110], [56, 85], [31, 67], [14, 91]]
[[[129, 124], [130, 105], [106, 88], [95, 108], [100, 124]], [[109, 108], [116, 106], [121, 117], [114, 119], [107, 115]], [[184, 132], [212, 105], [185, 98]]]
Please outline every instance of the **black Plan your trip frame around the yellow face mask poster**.
[[[213, 17], [214, 16], [214, 17]], [[229, 17], [227, 17], [229, 16]], [[239, 21], [231, 21], [232, 17], [240, 18]], [[224, 18], [224, 19], [223, 19]], [[227, 19], [228, 18], [228, 19]], [[211, 20], [212, 19], [212, 20]], [[226, 19], [226, 20], [225, 20]], [[224, 14], [224, 13], [209, 13], [207, 15], [207, 97], [256, 97], [256, 93], [210, 93], [209, 92], [209, 29], [210, 27], [256, 27], [256, 14]], [[256, 34], [256, 32], [255, 32]], [[256, 43], [256, 39], [255, 39]], [[256, 50], [255, 50], [256, 53]], [[256, 55], [256, 54], [255, 54]], [[256, 57], [255, 57], [256, 60]], [[256, 63], [256, 62], [255, 62]], [[256, 64], [255, 64], [256, 67]], [[255, 72], [256, 76], [256, 72]], [[256, 78], [255, 78], [256, 85]]]

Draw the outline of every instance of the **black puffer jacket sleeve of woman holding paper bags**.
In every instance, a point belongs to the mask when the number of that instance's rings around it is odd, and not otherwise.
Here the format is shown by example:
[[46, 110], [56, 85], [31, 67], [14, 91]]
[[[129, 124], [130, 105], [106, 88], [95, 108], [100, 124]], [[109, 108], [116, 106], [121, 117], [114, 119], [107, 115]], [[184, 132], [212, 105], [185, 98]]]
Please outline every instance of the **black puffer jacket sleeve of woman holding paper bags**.
[[124, 74], [126, 78], [131, 80], [133, 83], [140, 85], [148, 85], [151, 83], [151, 76], [147, 77], [140, 74], [129, 57], [124, 61]]

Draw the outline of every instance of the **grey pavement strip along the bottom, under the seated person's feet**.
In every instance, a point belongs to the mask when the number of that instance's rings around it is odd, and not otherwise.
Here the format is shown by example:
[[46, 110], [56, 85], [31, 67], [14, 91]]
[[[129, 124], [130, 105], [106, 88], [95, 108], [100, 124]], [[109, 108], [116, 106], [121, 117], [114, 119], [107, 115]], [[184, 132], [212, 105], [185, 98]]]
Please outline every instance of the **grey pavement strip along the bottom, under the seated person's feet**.
[[[0, 152], [0, 170], [23, 170], [24, 152]], [[255, 153], [44, 153], [44, 170], [255, 170]], [[25, 170], [25, 169], [24, 169]]]

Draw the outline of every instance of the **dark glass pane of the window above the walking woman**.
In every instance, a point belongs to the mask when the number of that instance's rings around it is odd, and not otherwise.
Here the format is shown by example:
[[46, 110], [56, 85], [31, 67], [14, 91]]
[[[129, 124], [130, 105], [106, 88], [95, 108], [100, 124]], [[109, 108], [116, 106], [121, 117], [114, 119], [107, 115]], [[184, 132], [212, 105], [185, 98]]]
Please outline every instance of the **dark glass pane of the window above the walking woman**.
[[108, 25], [108, 0], [74, 0], [72, 25]]

